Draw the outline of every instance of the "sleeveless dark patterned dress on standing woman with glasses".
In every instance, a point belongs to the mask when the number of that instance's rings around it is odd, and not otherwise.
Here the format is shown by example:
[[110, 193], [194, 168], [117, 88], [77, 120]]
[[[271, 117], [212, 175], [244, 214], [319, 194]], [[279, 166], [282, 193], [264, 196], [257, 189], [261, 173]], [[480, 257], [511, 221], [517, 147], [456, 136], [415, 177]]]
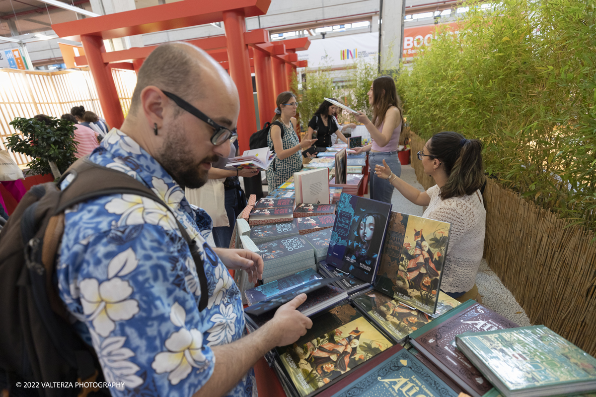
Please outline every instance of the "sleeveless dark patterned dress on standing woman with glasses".
[[[290, 123], [290, 126], [287, 127], [282, 123], [280, 120], [279, 123], [284, 127], [284, 137], [281, 139], [283, 143], [283, 148], [290, 149], [294, 146], [298, 145], [300, 141], [298, 140], [298, 136], [294, 132], [294, 126]], [[273, 150], [273, 141], [271, 140], [271, 132], [267, 135], [267, 145], [269, 146], [270, 150]], [[275, 169], [275, 171], [274, 171]], [[271, 162], [269, 168], [267, 168], [266, 176], [267, 176], [267, 186], [269, 190], [269, 194], [271, 194], [275, 189], [283, 185], [283, 183], [288, 180], [289, 177], [293, 176], [295, 172], [298, 172], [302, 169], [302, 151], [297, 151], [293, 155], [288, 158], [284, 158], [284, 160], [280, 160], [279, 158], [275, 158], [274, 161]]]

